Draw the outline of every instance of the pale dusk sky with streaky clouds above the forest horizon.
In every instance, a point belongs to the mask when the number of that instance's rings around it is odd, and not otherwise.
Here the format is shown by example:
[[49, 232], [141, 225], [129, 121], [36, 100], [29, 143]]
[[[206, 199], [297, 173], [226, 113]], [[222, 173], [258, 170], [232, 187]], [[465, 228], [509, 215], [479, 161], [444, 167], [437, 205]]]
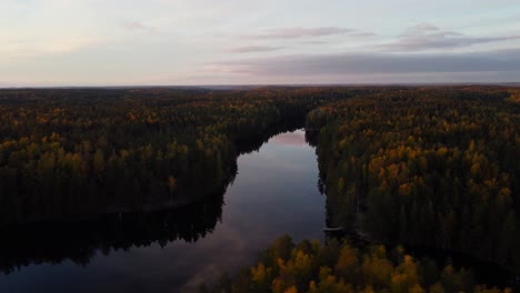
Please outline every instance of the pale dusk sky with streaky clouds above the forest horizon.
[[518, 0], [0, 0], [0, 87], [519, 81]]

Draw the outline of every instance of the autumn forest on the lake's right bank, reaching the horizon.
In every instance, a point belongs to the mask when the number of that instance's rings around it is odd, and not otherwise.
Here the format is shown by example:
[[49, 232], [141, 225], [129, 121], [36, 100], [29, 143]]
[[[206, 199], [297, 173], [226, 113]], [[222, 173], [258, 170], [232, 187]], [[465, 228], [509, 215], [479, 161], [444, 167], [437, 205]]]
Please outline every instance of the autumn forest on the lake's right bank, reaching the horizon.
[[520, 107], [511, 97], [402, 89], [311, 112], [331, 223], [520, 269]]

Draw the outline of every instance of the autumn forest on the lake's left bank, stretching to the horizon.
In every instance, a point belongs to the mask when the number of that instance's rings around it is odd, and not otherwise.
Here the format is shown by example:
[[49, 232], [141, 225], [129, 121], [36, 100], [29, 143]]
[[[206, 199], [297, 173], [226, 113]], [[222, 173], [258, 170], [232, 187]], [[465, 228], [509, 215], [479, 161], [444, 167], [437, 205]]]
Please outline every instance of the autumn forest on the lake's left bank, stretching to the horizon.
[[242, 144], [361, 91], [0, 91], [0, 223], [184, 205]]

